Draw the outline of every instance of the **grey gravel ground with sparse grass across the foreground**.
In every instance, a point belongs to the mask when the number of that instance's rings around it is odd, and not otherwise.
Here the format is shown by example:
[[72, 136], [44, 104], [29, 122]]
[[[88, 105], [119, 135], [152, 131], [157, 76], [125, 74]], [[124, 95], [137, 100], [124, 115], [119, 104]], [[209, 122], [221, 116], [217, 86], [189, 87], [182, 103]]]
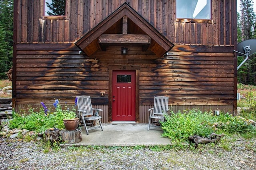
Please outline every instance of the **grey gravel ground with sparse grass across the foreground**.
[[0, 137], [0, 170], [255, 170], [256, 138], [225, 147], [163, 150], [143, 147], [79, 147], [44, 152], [43, 142]]

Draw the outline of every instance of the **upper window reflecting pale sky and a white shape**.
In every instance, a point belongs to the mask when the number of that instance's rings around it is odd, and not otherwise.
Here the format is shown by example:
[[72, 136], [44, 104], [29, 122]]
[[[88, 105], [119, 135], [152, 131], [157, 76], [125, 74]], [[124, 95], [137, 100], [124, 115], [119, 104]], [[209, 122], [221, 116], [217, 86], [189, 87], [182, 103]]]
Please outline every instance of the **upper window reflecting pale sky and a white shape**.
[[211, 0], [176, 0], [176, 18], [211, 19]]

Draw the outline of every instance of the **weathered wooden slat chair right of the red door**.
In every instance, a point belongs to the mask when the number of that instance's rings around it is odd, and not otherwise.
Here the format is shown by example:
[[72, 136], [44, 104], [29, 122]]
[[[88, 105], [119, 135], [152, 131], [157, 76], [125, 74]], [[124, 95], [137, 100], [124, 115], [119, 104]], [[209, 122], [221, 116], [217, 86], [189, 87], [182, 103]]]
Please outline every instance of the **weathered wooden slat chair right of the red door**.
[[[149, 127], [160, 127], [155, 125], [155, 123], [159, 123], [159, 121], [153, 121], [154, 119], [158, 119], [164, 121], [164, 115], [168, 113], [168, 100], [169, 97], [166, 96], [156, 96], [154, 98], [154, 107], [148, 109], [150, 111], [150, 116], [148, 120], [148, 131]], [[150, 125], [152, 123], [152, 125]]]

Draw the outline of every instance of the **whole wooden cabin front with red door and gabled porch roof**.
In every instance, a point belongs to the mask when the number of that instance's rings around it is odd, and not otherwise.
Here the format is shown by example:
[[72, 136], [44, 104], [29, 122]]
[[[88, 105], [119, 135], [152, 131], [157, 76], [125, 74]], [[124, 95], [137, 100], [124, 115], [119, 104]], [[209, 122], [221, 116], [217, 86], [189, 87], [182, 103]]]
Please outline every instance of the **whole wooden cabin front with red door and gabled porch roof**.
[[87, 95], [103, 123], [148, 123], [169, 96], [173, 111], [236, 114], [236, 0], [64, 2], [46, 16], [44, 0], [14, 0], [16, 110]]

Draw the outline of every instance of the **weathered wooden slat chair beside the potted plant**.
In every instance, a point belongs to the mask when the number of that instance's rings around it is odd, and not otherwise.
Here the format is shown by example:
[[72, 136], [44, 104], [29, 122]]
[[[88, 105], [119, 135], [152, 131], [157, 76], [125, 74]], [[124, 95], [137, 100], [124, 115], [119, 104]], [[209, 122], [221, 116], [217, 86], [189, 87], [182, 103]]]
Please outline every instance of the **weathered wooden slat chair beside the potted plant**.
[[[79, 118], [82, 118], [87, 135], [89, 135], [88, 131], [92, 129], [101, 128], [103, 131], [102, 124], [100, 122], [102, 117], [99, 116], [99, 111], [102, 111], [102, 109], [92, 108], [90, 96], [77, 96], [77, 108]], [[98, 120], [100, 125], [87, 128], [87, 125], [93, 125], [95, 120]]]

